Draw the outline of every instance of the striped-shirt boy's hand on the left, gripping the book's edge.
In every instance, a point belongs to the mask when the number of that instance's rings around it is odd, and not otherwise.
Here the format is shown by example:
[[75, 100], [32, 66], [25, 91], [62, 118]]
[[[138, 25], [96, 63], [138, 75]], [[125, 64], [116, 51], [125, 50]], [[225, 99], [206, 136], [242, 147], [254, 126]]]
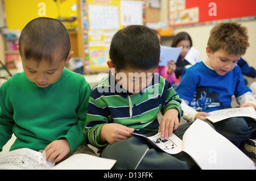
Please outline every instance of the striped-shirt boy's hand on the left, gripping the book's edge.
[[134, 128], [125, 127], [122, 124], [105, 124], [101, 128], [100, 140], [102, 143], [109, 142], [109, 144], [114, 144], [114, 142], [133, 136], [133, 134], [131, 134], [133, 131]]

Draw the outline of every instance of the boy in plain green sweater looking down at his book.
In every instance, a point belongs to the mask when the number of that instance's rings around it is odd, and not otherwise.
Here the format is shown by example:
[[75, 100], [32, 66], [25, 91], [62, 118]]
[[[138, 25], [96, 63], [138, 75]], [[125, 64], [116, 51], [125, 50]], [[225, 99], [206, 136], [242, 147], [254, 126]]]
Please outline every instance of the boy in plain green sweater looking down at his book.
[[0, 151], [14, 133], [10, 150], [44, 150], [61, 161], [85, 144], [90, 86], [65, 68], [73, 52], [68, 31], [56, 19], [37, 18], [22, 30], [19, 52], [23, 73], [0, 87]]

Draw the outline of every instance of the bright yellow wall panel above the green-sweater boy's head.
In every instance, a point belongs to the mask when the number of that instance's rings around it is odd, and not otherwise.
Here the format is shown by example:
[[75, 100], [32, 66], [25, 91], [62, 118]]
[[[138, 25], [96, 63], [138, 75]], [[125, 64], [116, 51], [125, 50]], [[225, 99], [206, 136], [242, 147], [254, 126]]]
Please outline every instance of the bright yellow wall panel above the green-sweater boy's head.
[[[77, 0], [5, 0], [6, 26], [9, 30], [22, 30], [32, 19], [40, 16], [69, 18], [77, 16], [71, 6]], [[45, 12], [45, 14], [43, 13]]]

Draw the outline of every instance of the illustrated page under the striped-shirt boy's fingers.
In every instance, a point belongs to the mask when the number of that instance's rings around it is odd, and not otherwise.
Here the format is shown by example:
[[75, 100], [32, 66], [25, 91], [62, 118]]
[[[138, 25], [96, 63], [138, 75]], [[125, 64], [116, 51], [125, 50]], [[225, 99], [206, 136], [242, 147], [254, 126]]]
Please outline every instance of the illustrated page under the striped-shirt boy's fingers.
[[180, 140], [180, 138], [177, 137], [174, 133], [172, 133], [172, 136], [168, 137], [167, 140], [161, 137], [161, 133], [157, 133], [150, 137], [147, 137], [143, 134], [133, 134], [147, 138], [147, 140], [151, 141], [152, 144], [156, 145], [158, 148], [162, 149], [168, 154], [177, 154], [182, 151], [182, 140]]

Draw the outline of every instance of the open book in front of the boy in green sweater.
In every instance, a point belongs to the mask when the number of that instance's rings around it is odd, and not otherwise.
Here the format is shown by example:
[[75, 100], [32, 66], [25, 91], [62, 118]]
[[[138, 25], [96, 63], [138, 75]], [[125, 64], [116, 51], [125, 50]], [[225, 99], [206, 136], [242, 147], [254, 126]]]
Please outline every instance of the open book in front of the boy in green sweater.
[[81, 153], [74, 154], [55, 166], [55, 162], [46, 161], [42, 153], [28, 148], [0, 154], [0, 169], [12, 170], [107, 170], [115, 162], [113, 159]]

